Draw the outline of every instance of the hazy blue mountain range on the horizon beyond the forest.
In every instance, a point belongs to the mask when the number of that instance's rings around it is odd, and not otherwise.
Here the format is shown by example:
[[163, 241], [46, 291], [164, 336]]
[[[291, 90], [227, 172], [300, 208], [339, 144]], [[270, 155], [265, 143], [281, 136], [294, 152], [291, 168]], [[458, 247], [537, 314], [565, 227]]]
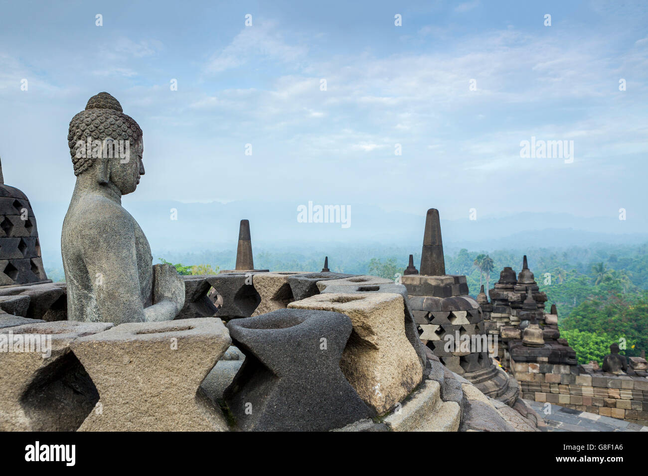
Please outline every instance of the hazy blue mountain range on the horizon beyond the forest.
[[[45, 266], [60, 266], [60, 235], [67, 203], [33, 202]], [[238, 223], [250, 221], [253, 246], [266, 250], [317, 249], [321, 244], [410, 247], [420, 252], [426, 207], [421, 214], [386, 212], [375, 205], [350, 204], [349, 227], [343, 223], [297, 220], [297, 207], [307, 203], [233, 201], [181, 203], [129, 201], [124, 207], [146, 233], [154, 257], [164, 253], [235, 250]], [[313, 204], [311, 209], [315, 208]], [[345, 205], [346, 207], [346, 205]], [[303, 209], [302, 209], [303, 210]], [[478, 220], [445, 220], [441, 229], [446, 252], [461, 247], [470, 251], [568, 247], [592, 243], [639, 244], [648, 242], [648, 221], [618, 216], [578, 217], [567, 213], [525, 212], [480, 216]], [[316, 210], [313, 212], [316, 215]], [[173, 218], [176, 218], [174, 220]], [[335, 216], [333, 216], [335, 218]], [[303, 216], [301, 217], [303, 220]]]

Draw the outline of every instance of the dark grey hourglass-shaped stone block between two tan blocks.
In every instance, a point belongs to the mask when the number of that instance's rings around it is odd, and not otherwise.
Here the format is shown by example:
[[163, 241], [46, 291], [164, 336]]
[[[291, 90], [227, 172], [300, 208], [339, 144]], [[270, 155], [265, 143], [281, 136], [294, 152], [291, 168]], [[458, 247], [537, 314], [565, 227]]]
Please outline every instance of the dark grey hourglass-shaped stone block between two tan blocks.
[[326, 431], [375, 415], [340, 370], [349, 317], [282, 309], [227, 328], [246, 355], [224, 394], [240, 429]]

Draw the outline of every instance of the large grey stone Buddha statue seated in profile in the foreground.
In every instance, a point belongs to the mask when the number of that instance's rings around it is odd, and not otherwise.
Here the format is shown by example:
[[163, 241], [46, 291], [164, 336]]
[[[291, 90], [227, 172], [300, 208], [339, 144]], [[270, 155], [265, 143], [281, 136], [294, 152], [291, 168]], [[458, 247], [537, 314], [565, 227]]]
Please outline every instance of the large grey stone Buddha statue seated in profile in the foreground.
[[76, 175], [61, 236], [68, 319], [174, 319], [184, 282], [174, 267], [152, 266], [144, 232], [121, 205], [144, 175], [142, 130], [117, 99], [99, 93], [73, 117], [67, 139]]

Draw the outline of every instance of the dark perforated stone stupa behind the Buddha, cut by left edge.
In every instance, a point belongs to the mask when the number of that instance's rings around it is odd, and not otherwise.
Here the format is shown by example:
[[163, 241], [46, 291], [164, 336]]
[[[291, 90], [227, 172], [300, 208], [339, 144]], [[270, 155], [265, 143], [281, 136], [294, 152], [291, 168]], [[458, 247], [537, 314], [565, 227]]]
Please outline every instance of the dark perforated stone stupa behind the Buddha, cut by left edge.
[[36, 217], [27, 196], [5, 185], [0, 164], [0, 286], [51, 282], [41, 258]]

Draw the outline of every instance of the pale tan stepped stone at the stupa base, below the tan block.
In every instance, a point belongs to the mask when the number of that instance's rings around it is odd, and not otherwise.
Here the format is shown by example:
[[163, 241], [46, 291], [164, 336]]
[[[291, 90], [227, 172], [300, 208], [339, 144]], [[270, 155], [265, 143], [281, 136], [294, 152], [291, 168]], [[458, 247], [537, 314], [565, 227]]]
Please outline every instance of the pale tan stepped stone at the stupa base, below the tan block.
[[457, 431], [460, 418], [459, 404], [443, 402], [439, 383], [425, 380], [384, 422], [391, 431]]

